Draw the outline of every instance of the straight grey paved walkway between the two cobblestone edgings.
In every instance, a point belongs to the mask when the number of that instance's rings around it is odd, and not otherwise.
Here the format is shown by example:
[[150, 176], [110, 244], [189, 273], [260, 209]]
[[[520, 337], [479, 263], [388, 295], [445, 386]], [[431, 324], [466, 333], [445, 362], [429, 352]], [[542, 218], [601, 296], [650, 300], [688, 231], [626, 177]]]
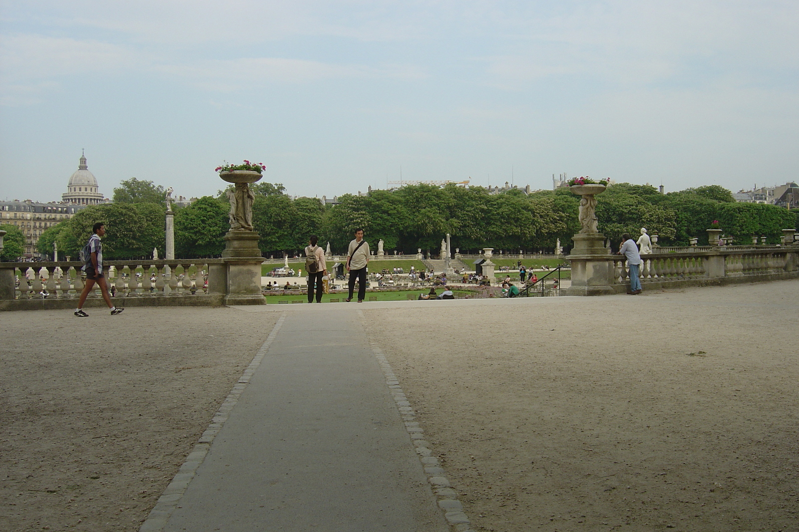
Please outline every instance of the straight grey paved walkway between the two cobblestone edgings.
[[142, 531], [450, 530], [359, 309], [303, 306], [277, 322]]

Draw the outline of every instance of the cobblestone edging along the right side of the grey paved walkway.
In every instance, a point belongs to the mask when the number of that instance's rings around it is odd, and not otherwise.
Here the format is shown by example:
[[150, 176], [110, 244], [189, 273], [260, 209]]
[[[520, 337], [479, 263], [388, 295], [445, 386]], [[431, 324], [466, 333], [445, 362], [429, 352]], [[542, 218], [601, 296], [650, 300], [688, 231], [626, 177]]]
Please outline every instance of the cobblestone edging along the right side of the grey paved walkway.
[[[361, 321], [363, 321], [363, 311], [358, 310], [358, 314]], [[447, 523], [452, 530], [455, 530], [455, 532], [475, 532], [469, 526], [469, 518], [463, 512], [463, 504], [458, 500], [458, 492], [450, 487], [449, 479], [447, 479], [439, 459], [433, 455], [430, 443], [424, 440], [424, 430], [419, 427], [419, 421], [416, 421], [416, 414], [413, 407], [411, 407], [410, 401], [407, 400], [405, 392], [400, 387], [400, 380], [397, 379], [392, 366], [388, 363], [380, 347], [371, 341], [369, 345], [372, 346], [372, 351], [375, 353], [378, 364], [380, 364], [380, 369], [383, 370], [383, 374], [386, 377], [386, 384], [392, 393], [397, 410], [400, 411], [405, 430], [411, 436], [411, 442], [415, 447], [416, 454], [419, 455], [419, 462], [422, 464], [425, 476], [427, 476], [427, 482], [431, 484], [436, 495], [437, 506], [444, 512], [444, 518], [447, 519]]]

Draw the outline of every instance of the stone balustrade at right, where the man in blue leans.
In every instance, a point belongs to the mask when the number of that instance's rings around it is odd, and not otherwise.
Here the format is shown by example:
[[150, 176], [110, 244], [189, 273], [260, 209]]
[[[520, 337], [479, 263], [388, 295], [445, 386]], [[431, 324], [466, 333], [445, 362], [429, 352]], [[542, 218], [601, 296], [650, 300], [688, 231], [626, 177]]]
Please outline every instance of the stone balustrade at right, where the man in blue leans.
[[[799, 278], [799, 246], [726, 246], [709, 251], [683, 248], [679, 253], [641, 258], [641, 284], [645, 289]], [[626, 259], [611, 255], [610, 261], [611, 286], [615, 292], [626, 290], [630, 283]]]

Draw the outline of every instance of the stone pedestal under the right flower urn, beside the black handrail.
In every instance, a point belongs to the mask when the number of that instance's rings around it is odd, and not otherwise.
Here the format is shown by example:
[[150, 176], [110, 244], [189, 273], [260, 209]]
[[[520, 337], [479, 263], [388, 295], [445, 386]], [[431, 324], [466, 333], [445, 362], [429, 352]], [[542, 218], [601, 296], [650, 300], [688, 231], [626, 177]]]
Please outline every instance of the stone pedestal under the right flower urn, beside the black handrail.
[[562, 289], [566, 296], [598, 296], [614, 294], [613, 261], [610, 249], [605, 247], [602, 233], [578, 233], [574, 235], [571, 250], [571, 286]]

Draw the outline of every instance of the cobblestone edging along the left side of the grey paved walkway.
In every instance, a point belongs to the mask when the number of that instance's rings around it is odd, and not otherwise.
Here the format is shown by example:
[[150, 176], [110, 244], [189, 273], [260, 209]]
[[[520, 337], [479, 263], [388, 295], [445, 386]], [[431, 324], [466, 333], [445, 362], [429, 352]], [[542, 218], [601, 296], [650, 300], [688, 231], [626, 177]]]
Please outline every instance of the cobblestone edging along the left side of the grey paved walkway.
[[285, 319], [286, 313], [284, 312], [272, 328], [272, 332], [266, 337], [263, 345], [258, 349], [255, 357], [252, 357], [252, 361], [247, 369], [244, 370], [237, 383], [233, 385], [233, 389], [228, 396], [225, 397], [225, 402], [219, 407], [217, 413], [213, 415], [213, 419], [208, 428], [205, 429], [205, 432], [203, 432], [200, 439], [197, 440], [192, 451], [186, 456], [185, 462], [173, 477], [172, 482], [169, 483], [169, 486], [166, 487], [161, 497], [158, 498], [156, 505], [153, 506], [153, 510], [150, 510], [145, 521], [141, 523], [139, 532], [163, 532], [166, 522], [169, 521], [169, 517], [171, 517], [173, 511], [177, 508], [177, 502], [181, 500], [186, 488], [189, 487], [189, 483], [194, 478], [197, 467], [200, 467], [203, 460], [205, 460], [205, 456], [208, 455], [213, 439], [219, 434], [225, 421], [228, 420], [230, 411], [233, 410], [233, 407], [238, 403], [241, 393], [244, 392], [244, 388], [247, 388], [247, 384], [249, 384], [253, 373], [255, 373], [258, 366], [260, 366], [260, 362], [264, 359], [264, 355], [268, 351], [269, 346], [272, 345], [272, 341], [274, 341], [277, 336], [277, 332], [280, 330]]

